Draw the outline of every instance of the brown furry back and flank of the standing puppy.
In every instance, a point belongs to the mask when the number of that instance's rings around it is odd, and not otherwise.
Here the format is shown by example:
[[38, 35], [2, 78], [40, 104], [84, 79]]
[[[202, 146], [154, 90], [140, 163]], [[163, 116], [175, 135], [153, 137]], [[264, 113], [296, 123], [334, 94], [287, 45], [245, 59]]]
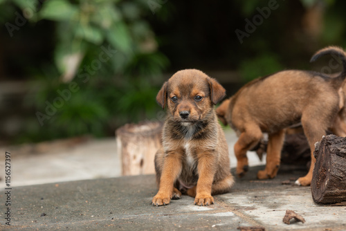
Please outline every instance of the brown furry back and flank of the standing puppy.
[[335, 100], [338, 93], [328, 77], [309, 71], [280, 71], [253, 80], [238, 91], [230, 102], [232, 121], [255, 120], [264, 131], [271, 130], [273, 124], [286, 127], [299, 122], [302, 111], [313, 104], [324, 104], [318, 109], [335, 110]]

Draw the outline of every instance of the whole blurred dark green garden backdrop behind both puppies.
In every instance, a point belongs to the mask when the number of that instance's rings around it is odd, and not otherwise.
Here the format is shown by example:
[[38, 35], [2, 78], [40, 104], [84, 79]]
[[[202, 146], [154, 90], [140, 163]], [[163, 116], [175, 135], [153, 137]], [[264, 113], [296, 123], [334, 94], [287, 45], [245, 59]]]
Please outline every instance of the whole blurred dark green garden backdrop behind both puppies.
[[[268, 2], [0, 0], [0, 134], [10, 143], [113, 136], [157, 117], [156, 93], [179, 69], [205, 71], [230, 96], [285, 68], [320, 71], [309, 64], [316, 50], [345, 48], [342, 0], [275, 1], [241, 44], [235, 30]], [[78, 90], [48, 115], [71, 83]]]

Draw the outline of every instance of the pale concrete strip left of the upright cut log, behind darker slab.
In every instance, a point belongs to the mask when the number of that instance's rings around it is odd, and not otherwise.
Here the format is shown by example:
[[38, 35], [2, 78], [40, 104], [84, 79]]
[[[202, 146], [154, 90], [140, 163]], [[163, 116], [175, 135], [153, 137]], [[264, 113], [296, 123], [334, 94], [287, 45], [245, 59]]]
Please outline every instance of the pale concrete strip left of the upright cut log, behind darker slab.
[[[1, 169], [5, 166], [5, 151], [12, 156], [13, 187], [121, 175], [115, 138], [89, 140], [67, 149], [55, 150], [53, 146], [39, 154], [21, 154], [15, 148], [1, 148]], [[0, 176], [3, 176], [2, 172]], [[4, 178], [0, 180], [0, 185], [5, 185]]]

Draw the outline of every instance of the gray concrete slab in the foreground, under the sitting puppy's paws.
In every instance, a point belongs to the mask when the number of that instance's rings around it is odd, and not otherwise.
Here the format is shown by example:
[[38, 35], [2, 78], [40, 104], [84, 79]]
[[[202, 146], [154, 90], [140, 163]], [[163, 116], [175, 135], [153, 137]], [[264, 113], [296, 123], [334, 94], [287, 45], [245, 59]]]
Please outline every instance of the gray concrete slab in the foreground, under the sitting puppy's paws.
[[[282, 167], [277, 178], [258, 181], [263, 166], [251, 167], [232, 192], [215, 196], [215, 205], [199, 207], [183, 195], [170, 205], [150, 204], [154, 175], [72, 181], [12, 189], [11, 227], [5, 226], [5, 194], [0, 191], [1, 230], [346, 230], [346, 207], [316, 205], [309, 187], [294, 186], [306, 171]], [[291, 181], [291, 185], [282, 185]], [[286, 210], [306, 223], [286, 225]]]

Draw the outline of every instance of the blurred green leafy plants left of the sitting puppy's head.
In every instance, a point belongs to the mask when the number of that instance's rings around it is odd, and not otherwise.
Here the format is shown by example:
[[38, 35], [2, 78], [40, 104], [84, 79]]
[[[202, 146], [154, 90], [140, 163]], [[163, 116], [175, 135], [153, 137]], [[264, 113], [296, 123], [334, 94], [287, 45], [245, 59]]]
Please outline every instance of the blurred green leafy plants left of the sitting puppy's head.
[[69, 90], [71, 82], [78, 86], [62, 107], [42, 119], [42, 127], [36, 117], [28, 118], [19, 141], [85, 133], [105, 136], [125, 122], [154, 118], [158, 86], [152, 81], [161, 82], [169, 62], [157, 51], [145, 20], [152, 12], [144, 1], [54, 0], [41, 7], [30, 0], [14, 3], [34, 9], [31, 21], [54, 21], [56, 28], [55, 64], [38, 77], [35, 98], [27, 100], [28, 106], [48, 115], [47, 102], [54, 105], [62, 98], [58, 90]]

